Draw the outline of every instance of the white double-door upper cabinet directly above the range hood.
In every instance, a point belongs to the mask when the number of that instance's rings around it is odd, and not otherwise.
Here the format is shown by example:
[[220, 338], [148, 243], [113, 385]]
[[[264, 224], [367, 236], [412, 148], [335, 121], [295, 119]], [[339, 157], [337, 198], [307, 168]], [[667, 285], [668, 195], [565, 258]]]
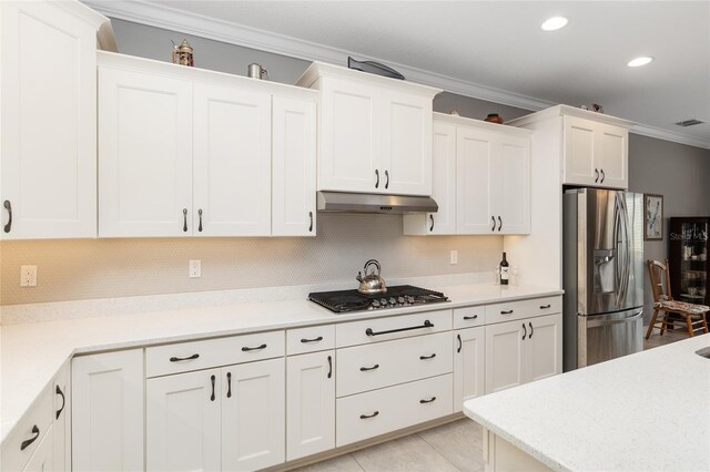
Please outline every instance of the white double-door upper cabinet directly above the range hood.
[[317, 188], [432, 194], [432, 100], [440, 90], [314, 62], [321, 91]]

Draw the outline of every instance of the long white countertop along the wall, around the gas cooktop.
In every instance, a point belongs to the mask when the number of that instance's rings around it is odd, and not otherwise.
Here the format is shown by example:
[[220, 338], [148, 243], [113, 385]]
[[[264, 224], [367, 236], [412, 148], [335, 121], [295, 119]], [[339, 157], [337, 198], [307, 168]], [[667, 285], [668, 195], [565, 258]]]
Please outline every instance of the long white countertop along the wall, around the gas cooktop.
[[[42, 389], [49, 384], [62, 365], [73, 355], [101, 350], [183, 341], [239, 335], [272, 329], [313, 326], [356, 319], [394, 316], [417, 311], [450, 309], [462, 306], [484, 305], [504, 300], [560, 295], [555, 288], [537, 286], [501, 287], [493, 284], [464, 284], [452, 286], [428, 285], [443, 291], [450, 302], [432, 304], [412, 308], [393, 308], [377, 311], [359, 311], [349, 315], [333, 312], [304, 298], [282, 301], [251, 301], [223, 305], [224, 296], [214, 293], [214, 302], [209, 296], [195, 294], [204, 306], [185, 309], [160, 310], [154, 307], [155, 297], [145, 299], [145, 312], [101, 316], [75, 319], [59, 319], [42, 322], [23, 322], [0, 327], [0, 441], [10, 433], [18, 420], [28, 411]], [[190, 295], [179, 295], [181, 299]], [[165, 297], [161, 296], [161, 300]], [[153, 300], [153, 301], [151, 301]], [[81, 305], [71, 302], [72, 309]], [[152, 305], [151, 305], [152, 304]], [[47, 312], [52, 304], [38, 305], [37, 310]], [[116, 301], [105, 304], [105, 310], [115, 312]], [[134, 309], [136, 301], [126, 300]], [[169, 304], [174, 305], [174, 304]], [[194, 304], [193, 304], [194, 305]], [[67, 304], [57, 304], [58, 312], [67, 310]], [[87, 306], [100, 311], [101, 300], [88, 300]], [[31, 318], [32, 307], [14, 307]]]

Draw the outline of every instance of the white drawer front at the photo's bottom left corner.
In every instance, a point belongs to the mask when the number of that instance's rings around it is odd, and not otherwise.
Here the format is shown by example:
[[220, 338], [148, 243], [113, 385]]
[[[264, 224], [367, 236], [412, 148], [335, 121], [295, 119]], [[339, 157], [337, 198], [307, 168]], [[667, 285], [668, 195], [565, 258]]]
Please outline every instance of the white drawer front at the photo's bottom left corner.
[[[20, 419], [14, 430], [2, 442], [2, 461], [0, 470], [23, 470], [34, 451], [44, 439], [53, 421], [51, 384], [45, 387], [34, 406]], [[32, 430], [37, 427], [36, 431]], [[24, 441], [36, 438], [29, 445], [22, 449]]]

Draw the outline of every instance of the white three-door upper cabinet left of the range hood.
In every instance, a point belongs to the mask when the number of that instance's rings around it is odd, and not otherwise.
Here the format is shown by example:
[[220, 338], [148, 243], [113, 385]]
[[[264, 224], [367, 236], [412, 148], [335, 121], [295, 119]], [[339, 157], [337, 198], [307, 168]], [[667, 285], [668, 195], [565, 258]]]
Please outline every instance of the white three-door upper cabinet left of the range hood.
[[310, 90], [100, 53], [99, 236], [315, 235], [316, 104]]

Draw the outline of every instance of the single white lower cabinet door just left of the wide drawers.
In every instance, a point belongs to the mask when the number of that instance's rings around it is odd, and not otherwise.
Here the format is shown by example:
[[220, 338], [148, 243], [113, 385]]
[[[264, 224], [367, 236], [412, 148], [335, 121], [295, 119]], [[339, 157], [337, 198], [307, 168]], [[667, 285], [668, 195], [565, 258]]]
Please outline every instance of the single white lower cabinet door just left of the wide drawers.
[[335, 448], [335, 351], [286, 361], [286, 460]]

